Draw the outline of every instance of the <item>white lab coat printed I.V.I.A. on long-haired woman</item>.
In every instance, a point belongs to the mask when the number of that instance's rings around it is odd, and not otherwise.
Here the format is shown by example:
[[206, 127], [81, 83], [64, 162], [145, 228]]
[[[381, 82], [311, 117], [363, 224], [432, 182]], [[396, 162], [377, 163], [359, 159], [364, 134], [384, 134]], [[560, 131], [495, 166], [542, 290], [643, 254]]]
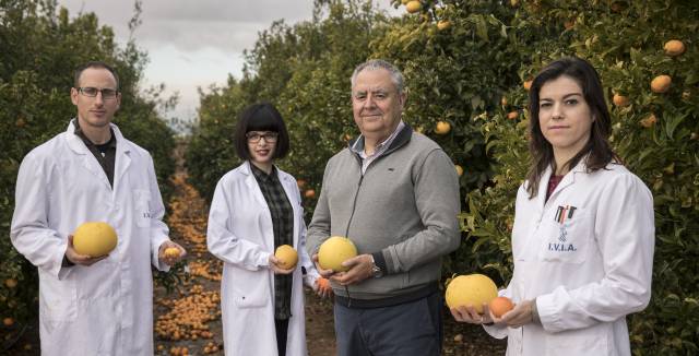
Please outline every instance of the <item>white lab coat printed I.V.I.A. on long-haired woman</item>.
[[[520, 187], [514, 273], [500, 292], [514, 302], [536, 298], [543, 327], [486, 331], [508, 336], [507, 355], [631, 355], [626, 316], [651, 297], [653, 197], [624, 166], [587, 174], [580, 163], [545, 202], [550, 173], [532, 200]], [[574, 210], [561, 218], [559, 206]]]

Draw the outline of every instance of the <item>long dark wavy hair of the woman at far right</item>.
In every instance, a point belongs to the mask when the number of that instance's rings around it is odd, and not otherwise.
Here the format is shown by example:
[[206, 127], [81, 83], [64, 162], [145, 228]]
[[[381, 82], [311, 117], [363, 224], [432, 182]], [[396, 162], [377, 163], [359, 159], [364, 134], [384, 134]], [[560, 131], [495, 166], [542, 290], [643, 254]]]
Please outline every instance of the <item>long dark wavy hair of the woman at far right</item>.
[[597, 75], [592, 64], [584, 59], [577, 57], [558, 59], [542, 69], [534, 78], [529, 92], [529, 110], [531, 112], [529, 149], [532, 162], [526, 177], [529, 180], [526, 190], [530, 199], [536, 197], [538, 180], [546, 168], [555, 168], [556, 166], [554, 149], [544, 138], [538, 123], [538, 93], [544, 84], [560, 76], [568, 76], [580, 85], [582, 95], [594, 119], [590, 129], [588, 144], [565, 165], [572, 169], [585, 155], [588, 156], [585, 159], [588, 171], [602, 169], [613, 161], [621, 163], [621, 158], [609, 146], [608, 138], [612, 134], [612, 117], [604, 100], [604, 90], [602, 88], [600, 75]]

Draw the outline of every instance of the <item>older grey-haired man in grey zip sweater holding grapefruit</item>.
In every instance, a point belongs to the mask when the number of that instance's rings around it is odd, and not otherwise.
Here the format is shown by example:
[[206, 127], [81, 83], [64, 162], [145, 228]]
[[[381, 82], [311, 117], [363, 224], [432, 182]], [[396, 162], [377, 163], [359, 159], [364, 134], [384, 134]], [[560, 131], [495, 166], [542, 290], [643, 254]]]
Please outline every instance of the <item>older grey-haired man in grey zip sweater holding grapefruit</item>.
[[[402, 120], [403, 76], [370, 60], [352, 75], [362, 135], [334, 155], [308, 230], [311, 256], [331, 236], [358, 256], [321, 270], [335, 293], [339, 355], [439, 355], [441, 257], [459, 247], [459, 182], [441, 147]], [[313, 257], [317, 261], [317, 256]]]

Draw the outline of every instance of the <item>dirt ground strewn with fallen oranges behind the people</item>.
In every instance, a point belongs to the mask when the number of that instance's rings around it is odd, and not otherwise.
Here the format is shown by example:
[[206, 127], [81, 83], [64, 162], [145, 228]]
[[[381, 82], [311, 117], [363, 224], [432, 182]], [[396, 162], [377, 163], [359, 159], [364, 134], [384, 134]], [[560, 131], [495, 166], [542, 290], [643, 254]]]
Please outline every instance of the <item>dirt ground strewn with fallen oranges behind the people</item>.
[[[204, 201], [187, 183], [186, 176], [174, 179], [176, 193], [169, 207], [170, 237], [182, 244], [189, 254], [179, 269], [179, 281], [171, 280], [154, 288], [155, 355], [223, 355], [220, 308], [222, 264], [206, 251]], [[38, 320], [24, 331], [16, 325], [20, 339], [11, 348], [3, 344], [0, 354], [39, 355]], [[335, 355], [332, 301], [321, 299], [306, 288], [306, 335], [310, 356]], [[482, 328], [458, 324], [445, 310], [442, 355], [503, 355], [505, 343], [488, 336]]]

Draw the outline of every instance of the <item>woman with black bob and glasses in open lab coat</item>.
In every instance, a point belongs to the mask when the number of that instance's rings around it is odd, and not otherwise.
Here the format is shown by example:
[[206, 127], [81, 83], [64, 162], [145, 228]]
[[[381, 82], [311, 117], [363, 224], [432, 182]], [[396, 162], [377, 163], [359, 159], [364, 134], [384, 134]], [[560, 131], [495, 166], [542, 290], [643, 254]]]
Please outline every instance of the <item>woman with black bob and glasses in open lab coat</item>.
[[[224, 262], [224, 349], [228, 356], [304, 356], [301, 283], [321, 296], [330, 292], [319, 287], [320, 275], [306, 252], [296, 179], [274, 165], [289, 150], [286, 124], [271, 104], [254, 104], [240, 114], [234, 142], [245, 162], [216, 185], [206, 235], [209, 250]], [[299, 263], [288, 265], [274, 256], [283, 245], [297, 251]]]

